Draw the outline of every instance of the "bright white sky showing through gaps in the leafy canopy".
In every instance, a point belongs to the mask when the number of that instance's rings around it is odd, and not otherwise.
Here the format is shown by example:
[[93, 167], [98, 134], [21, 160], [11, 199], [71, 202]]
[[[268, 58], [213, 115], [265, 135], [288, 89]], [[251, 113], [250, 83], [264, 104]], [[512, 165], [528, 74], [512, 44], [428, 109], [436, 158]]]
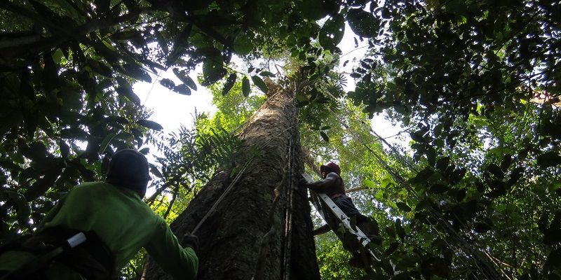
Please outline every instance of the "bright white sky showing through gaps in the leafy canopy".
[[[340, 68], [346, 73], [351, 73], [352, 66], [356, 65], [356, 63], [353, 63], [353, 59], [362, 58], [367, 50], [367, 48], [364, 47], [367, 44], [366, 41], [359, 41], [358, 43], [358, 48], [356, 48], [353, 40], [353, 32], [349, 28], [349, 25], [346, 25], [344, 38], [338, 45], [343, 52], [343, 57], [340, 59], [341, 64], [345, 60], [350, 60], [346, 67], [342, 68], [341, 65]], [[198, 73], [201, 73], [200, 65], [195, 71], [192, 71], [189, 76], [191, 76], [193, 80], [196, 80]], [[170, 78], [174, 80], [175, 83], [180, 83], [180, 80], [178, 80], [171, 71], [160, 73], [160, 77]], [[214, 106], [212, 106], [212, 96], [205, 87], [198, 85], [197, 91], [192, 91], [191, 95], [182, 95], [163, 87], [158, 83], [156, 77], [152, 78], [154, 83], [136, 83], [133, 86], [133, 90], [140, 97], [140, 100], [142, 100], [142, 104], [154, 112], [150, 120], [154, 120], [156, 123], [162, 125], [164, 133], [175, 132], [180, 125], [191, 127], [194, 123], [195, 111], [202, 113], [216, 110]], [[353, 78], [348, 76], [347, 84], [346, 90], [354, 89], [355, 83]], [[386, 139], [390, 143], [404, 144], [403, 140], [397, 139], [397, 137], [391, 137], [400, 132], [400, 126], [392, 125], [385, 120], [382, 115], [374, 116], [372, 119], [372, 127], [381, 137], [390, 137]], [[407, 139], [405, 140], [407, 141]], [[154, 153], [155, 151], [151, 152]]]

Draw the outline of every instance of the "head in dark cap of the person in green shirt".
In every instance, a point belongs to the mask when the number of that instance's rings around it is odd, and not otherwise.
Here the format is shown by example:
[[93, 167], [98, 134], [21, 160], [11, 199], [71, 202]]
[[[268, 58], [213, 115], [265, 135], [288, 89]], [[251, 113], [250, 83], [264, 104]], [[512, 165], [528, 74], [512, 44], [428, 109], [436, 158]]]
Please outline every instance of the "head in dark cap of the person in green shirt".
[[150, 181], [148, 169], [148, 160], [139, 151], [119, 150], [109, 161], [105, 181], [115, 186], [134, 190], [140, 197], [144, 197], [148, 181]]

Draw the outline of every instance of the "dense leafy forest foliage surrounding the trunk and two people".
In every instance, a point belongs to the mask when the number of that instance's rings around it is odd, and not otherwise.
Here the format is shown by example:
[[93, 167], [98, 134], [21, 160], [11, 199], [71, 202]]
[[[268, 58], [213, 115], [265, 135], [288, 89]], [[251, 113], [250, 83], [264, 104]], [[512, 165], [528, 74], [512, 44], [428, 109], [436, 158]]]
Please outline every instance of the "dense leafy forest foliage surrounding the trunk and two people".
[[[147, 202], [173, 219], [231, 162], [266, 98], [252, 86], [297, 79], [311, 162], [339, 162], [379, 224], [370, 276], [561, 279], [559, 1], [8, 0], [0, 19], [2, 241], [76, 183], [103, 179], [116, 149], [147, 144], [160, 150]], [[345, 24], [367, 48], [349, 92], [333, 71]], [[278, 77], [264, 54], [297, 71]], [[180, 83], [159, 78], [167, 70]], [[165, 136], [137, 80], [186, 95], [212, 85], [219, 112]], [[410, 132], [411, 157], [370, 131], [379, 113]], [[365, 276], [333, 235], [317, 241], [325, 279]]]

